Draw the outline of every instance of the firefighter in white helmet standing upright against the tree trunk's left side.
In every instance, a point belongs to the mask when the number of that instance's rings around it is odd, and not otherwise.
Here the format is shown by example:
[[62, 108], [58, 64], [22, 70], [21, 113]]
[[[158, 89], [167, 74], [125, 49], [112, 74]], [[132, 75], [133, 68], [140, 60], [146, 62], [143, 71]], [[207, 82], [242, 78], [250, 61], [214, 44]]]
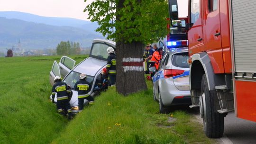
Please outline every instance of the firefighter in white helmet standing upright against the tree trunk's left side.
[[116, 87], [116, 54], [113, 47], [108, 47], [107, 72], [110, 76], [110, 87]]

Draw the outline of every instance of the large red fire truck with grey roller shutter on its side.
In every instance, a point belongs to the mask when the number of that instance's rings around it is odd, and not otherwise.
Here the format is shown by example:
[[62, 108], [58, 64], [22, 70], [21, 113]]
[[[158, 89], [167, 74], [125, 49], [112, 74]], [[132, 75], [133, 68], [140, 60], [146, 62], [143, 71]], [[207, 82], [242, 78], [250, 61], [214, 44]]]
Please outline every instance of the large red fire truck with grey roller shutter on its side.
[[[230, 111], [256, 122], [256, 0], [188, 1], [191, 108], [200, 107], [205, 134], [217, 138]], [[178, 19], [177, 0], [169, 10]]]

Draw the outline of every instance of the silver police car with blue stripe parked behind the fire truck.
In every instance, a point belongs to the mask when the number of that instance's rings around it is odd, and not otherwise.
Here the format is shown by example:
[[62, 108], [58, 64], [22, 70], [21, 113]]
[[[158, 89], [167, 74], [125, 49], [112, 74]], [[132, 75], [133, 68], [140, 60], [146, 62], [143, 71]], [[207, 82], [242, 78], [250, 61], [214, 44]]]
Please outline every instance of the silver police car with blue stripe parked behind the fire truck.
[[159, 101], [160, 113], [173, 105], [191, 104], [188, 48], [165, 52], [158, 72], [153, 76], [153, 98]]

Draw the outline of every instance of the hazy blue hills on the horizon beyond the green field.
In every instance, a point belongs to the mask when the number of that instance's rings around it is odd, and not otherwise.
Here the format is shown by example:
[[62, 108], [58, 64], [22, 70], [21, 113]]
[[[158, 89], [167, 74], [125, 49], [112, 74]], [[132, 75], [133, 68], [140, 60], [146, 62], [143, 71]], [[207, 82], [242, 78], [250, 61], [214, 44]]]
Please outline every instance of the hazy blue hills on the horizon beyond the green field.
[[[11, 14], [11, 13], [9, 13]], [[13, 13], [12, 13], [13, 14]], [[3, 15], [3, 12], [0, 12]], [[35, 15], [31, 15], [31, 18]], [[73, 18], [54, 18], [49, 20], [48, 18], [43, 21], [44, 24], [39, 21], [27, 22], [20, 19], [9, 19], [10, 15], [5, 15], [5, 18], [0, 18], [0, 49], [11, 48], [12, 45], [18, 44], [20, 39], [21, 48], [25, 49], [44, 49], [44, 48], [55, 48], [60, 41], [75, 41], [82, 44], [83, 47], [90, 46], [94, 38], [103, 38], [101, 34], [94, 32], [93, 30], [85, 30], [79, 27], [68, 27], [68, 26], [51, 26], [50, 23], [59, 23], [58, 20], [64, 20], [65, 25], [81, 25], [90, 28], [96, 27], [91, 22], [77, 20]], [[14, 16], [13, 16], [14, 17]], [[18, 16], [17, 16], [18, 17]], [[39, 17], [39, 16], [38, 16]], [[26, 19], [25, 17], [19, 17]], [[37, 19], [37, 18], [36, 18]], [[27, 16], [27, 20], [29, 20]], [[32, 18], [33, 20], [33, 18]], [[34, 21], [36, 21], [34, 19]], [[64, 23], [64, 22], [63, 22]]]

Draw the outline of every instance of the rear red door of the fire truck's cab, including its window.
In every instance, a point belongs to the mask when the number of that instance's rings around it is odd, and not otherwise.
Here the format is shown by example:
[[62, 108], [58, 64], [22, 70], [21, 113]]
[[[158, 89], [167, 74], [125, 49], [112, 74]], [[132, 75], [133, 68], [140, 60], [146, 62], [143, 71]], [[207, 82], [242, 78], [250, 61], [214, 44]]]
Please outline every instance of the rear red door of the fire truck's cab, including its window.
[[221, 46], [221, 29], [219, 18], [219, 0], [202, 0], [204, 2], [204, 45], [215, 73], [223, 73]]

